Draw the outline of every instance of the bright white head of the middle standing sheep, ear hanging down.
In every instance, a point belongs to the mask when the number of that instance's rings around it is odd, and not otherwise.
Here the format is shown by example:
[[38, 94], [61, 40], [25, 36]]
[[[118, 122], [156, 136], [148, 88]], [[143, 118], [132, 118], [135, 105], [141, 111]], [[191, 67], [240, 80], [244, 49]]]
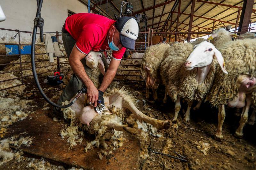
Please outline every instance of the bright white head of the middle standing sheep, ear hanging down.
[[217, 50], [212, 43], [203, 41], [194, 47], [192, 53], [188, 56], [185, 63], [187, 70], [192, 70], [196, 67], [205, 67], [212, 63], [213, 57], [216, 57], [220, 64], [221, 70], [228, 74], [224, 68], [225, 62], [219, 50]]

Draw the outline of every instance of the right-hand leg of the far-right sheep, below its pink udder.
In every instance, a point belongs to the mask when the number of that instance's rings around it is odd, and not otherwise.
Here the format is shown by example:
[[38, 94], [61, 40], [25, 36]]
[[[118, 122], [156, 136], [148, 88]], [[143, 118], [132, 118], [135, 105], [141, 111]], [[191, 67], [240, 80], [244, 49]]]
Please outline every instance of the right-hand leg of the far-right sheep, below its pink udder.
[[236, 137], [241, 138], [244, 135], [243, 128], [248, 119], [248, 112], [249, 112], [251, 103], [252, 102], [250, 99], [246, 99], [246, 106], [245, 106], [245, 109], [243, 109], [243, 113], [241, 114], [239, 127], [236, 129], [236, 133], [235, 133]]

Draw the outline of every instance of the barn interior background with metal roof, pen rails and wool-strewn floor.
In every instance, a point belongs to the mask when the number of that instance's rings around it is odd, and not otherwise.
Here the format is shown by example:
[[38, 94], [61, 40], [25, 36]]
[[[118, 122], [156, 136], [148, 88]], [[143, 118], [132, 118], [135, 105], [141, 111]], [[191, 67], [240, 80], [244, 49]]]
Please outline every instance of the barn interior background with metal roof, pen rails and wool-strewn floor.
[[[224, 138], [216, 141], [218, 109], [209, 103], [204, 103], [199, 111], [192, 111], [189, 124], [182, 121], [180, 114], [178, 130], [157, 130], [136, 121], [140, 128], [137, 135], [118, 134], [106, 141], [107, 149], [92, 147], [87, 151], [95, 137], [49, 116], [52, 107], [34, 84], [30, 51], [36, 1], [4, 0], [0, 5], [6, 16], [0, 25], [1, 168], [255, 169], [255, 125], [246, 124], [244, 137], [234, 137], [241, 110], [228, 108], [222, 129]], [[207, 39], [214, 30], [227, 26], [236, 34], [256, 32], [253, 0], [44, 0], [41, 10], [44, 35], [56, 37], [55, 47], [59, 49], [59, 54], [49, 57], [52, 52], [47, 51], [45, 42], [40, 42], [38, 32], [36, 70], [48, 97], [56, 102], [68, 82], [65, 78], [71, 76], [61, 37], [65, 19], [88, 11], [115, 19], [120, 14], [130, 15], [129, 9], [140, 29], [136, 50], [128, 51], [110, 87], [125, 86], [135, 96], [141, 112], [160, 120], [173, 119], [174, 103], [170, 98], [167, 103], [162, 102], [163, 85], [158, 89], [159, 101], [153, 97], [146, 99], [141, 63], [142, 53], [148, 47], [163, 38], [170, 45], [193, 42], [200, 37]], [[106, 53], [110, 61], [112, 52]], [[44, 83], [54, 72], [65, 75], [64, 83], [57, 86]], [[186, 107], [186, 102], [181, 101], [180, 112], [185, 113]]]

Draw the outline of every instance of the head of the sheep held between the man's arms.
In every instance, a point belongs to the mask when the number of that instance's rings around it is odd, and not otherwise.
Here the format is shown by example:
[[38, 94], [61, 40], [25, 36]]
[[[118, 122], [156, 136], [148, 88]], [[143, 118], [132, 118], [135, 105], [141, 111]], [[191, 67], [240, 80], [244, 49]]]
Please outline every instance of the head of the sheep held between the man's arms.
[[105, 67], [104, 67], [104, 64], [101, 60], [101, 53], [99, 52], [95, 52], [95, 51], [90, 51], [88, 53], [88, 55], [85, 56], [85, 60], [86, 60], [86, 65], [94, 70], [98, 67], [98, 64], [99, 65], [99, 68], [100, 68], [100, 72], [105, 75]]

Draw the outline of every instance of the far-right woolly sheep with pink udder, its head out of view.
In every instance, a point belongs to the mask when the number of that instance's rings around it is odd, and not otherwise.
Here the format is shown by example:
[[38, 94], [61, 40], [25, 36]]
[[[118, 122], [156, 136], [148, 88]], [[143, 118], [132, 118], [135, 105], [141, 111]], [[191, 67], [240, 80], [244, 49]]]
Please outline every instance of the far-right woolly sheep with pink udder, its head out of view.
[[[207, 100], [212, 106], [219, 108], [218, 129], [216, 139], [222, 136], [222, 125], [225, 119], [225, 105], [229, 107], [244, 107], [241, 114], [240, 126], [236, 130], [237, 137], [243, 136], [243, 127], [248, 118], [250, 104], [255, 102], [256, 88], [256, 39], [231, 41], [219, 48], [226, 61], [229, 74], [223, 74], [220, 69], [216, 71], [215, 80]], [[200, 48], [199, 46], [196, 48]], [[203, 51], [202, 51], [203, 52]]]

